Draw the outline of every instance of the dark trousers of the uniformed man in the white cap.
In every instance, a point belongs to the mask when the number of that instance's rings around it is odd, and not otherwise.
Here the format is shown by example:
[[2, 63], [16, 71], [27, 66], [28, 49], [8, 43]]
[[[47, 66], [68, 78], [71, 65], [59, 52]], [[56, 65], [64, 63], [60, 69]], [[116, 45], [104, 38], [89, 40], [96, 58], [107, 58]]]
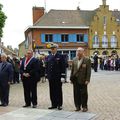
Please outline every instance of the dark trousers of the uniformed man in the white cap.
[[50, 100], [54, 107], [62, 106], [63, 95], [62, 95], [62, 82], [60, 79], [49, 80]]

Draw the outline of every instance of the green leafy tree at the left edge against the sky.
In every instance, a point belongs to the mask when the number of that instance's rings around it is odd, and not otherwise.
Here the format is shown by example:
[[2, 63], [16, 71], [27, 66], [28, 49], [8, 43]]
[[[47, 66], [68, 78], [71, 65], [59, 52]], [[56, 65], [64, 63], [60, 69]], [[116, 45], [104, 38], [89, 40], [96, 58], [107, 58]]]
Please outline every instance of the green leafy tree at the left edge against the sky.
[[6, 15], [2, 11], [3, 5], [0, 4], [0, 38], [3, 36], [3, 27], [5, 25]]

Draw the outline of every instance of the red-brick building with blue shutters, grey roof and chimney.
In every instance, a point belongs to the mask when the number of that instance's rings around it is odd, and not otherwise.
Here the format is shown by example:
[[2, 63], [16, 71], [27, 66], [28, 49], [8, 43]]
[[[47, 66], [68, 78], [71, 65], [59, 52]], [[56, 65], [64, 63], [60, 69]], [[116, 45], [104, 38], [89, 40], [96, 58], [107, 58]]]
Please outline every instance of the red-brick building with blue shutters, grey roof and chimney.
[[[33, 26], [25, 31], [28, 46], [35, 52], [49, 52], [47, 44], [55, 42], [60, 53], [68, 54], [69, 60], [76, 55], [76, 49], [82, 46], [88, 53], [89, 26], [80, 17], [79, 10], [50, 10], [33, 7]], [[39, 15], [38, 15], [39, 13]]]

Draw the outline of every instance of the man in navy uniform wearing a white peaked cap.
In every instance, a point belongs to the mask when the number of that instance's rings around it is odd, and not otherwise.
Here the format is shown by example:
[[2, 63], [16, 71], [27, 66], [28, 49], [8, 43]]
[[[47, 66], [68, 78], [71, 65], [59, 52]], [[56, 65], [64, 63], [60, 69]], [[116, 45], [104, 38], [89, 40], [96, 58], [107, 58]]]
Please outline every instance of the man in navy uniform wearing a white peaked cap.
[[65, 60], [57, 53], [57, 44], [51, 44], [51, 54], [46, 61], [46, 74], [49, 80], [51, 107], [48, 109], [62, 109], [62, 82], [61, 77], [65, 77]]

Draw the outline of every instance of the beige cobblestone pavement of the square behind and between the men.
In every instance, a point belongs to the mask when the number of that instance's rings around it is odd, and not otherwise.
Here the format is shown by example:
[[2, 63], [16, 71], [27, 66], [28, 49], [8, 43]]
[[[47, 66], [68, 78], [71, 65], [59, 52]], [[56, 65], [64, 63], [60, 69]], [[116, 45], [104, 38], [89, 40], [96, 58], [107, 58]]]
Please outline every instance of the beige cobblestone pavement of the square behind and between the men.
[[[69, 71], [68, 78], [69, 81]], [[74, 111], [72, 84], [63, 84], [63, 109]], [[88, 85], [89, 113], [97, 114], [96, 120], [120, 120], [120, 71], [92, 71]], [[22, 84], [11, 85], [10, 105], [0, 107], [0, 114], [22, 108], [24, 105]], [[38, 109], [50, 106], [48, 82], [38, 83]]]

